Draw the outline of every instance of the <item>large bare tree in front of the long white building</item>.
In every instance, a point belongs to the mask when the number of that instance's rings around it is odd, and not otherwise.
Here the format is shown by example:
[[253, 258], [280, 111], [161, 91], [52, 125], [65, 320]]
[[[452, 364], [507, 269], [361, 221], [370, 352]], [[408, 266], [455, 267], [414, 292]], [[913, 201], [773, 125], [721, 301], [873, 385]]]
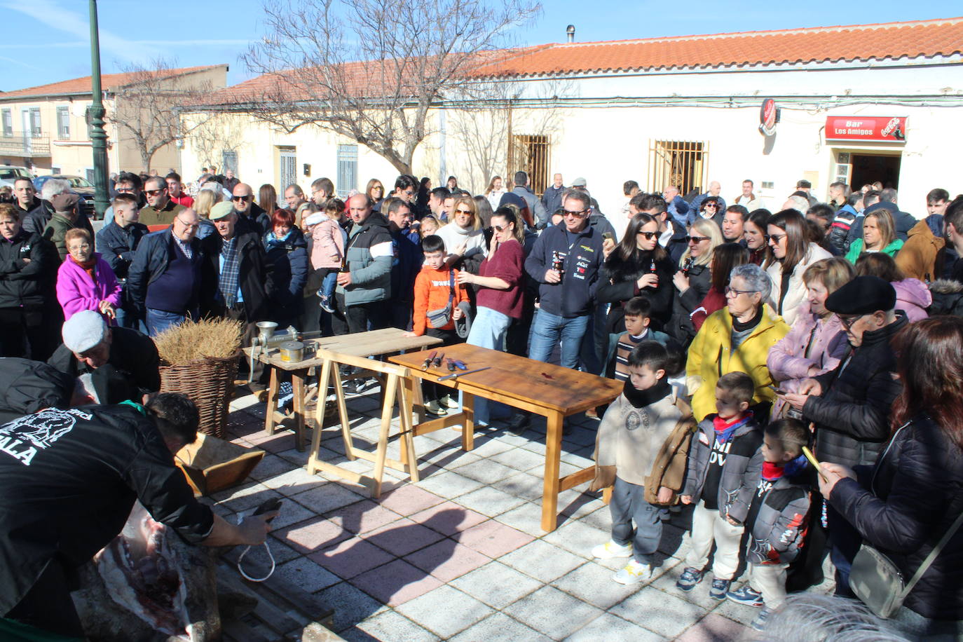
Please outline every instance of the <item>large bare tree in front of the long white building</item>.
[[264, 74], [247, 110], [283, 131], [317, 125], [364, 144], [402, 173], [432, 133], [429, 110], [504, 53], [533, 0], [285, 0], [244, 56]]

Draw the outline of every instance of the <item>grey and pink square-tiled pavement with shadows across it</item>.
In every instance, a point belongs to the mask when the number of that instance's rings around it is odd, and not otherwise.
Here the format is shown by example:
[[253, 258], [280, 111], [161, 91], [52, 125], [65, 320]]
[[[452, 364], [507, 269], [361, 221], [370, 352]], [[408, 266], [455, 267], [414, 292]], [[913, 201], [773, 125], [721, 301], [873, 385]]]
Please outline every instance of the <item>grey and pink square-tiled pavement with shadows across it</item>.
[[[348, 406], [355, 445], [373, 448], [377, 399]], [[421, 482], [386, 469], [386, 492], [373, 501], [350, 482], [307, 475], [307, 453], [294, 449], [293, 433], [263, 431], [264, 404], [247, 397], [231, 408], [229, 437], [267, 454], [244, 485], [215, 495], [217, 510], [227, 517], [282, 497], [270, 540], [275, 573], [333, 608], [347, 640], [709, 642], [738, 639], [755, 616], [711, 600], [708, 582], [690, 594], [675, 588], [687, 512], [666, 523], [661, 565], [645, 585], [612, 581], [624, 560], [591, 558], [610, 520], [585, 486], [560, 495], [560, 526], [543, 532], [544, 421], [522, 436], [480, 431], [471, 452], [459, 448], [454, 430], [417, 437]], [[563, 475], [590, 465], [594, 436], [586, 420], [565, 437]], [[334, 428], [323, 437], [326, 460], [371, 470], [367, 461], [347, 461]], [[397, 442], [392, 447], [389, 457], [397, 458]], [[262, 556], [252, 551], [246, 560], [256, 568]]]

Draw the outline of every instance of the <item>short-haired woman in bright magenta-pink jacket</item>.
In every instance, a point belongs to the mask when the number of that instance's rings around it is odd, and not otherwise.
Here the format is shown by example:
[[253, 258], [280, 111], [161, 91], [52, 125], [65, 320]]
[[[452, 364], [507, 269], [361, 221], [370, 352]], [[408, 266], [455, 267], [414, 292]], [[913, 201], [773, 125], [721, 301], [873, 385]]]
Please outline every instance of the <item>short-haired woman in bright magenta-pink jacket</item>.
[[117, 283], [114, 270], [93, 251], [87, 230], [69, 229], [64, 241], [68, 253], [57, 271], [57, 300], [64, 308], [64, 321], [81, 310], [93, 310], [109, 325], [116, 325], [123, 288]]

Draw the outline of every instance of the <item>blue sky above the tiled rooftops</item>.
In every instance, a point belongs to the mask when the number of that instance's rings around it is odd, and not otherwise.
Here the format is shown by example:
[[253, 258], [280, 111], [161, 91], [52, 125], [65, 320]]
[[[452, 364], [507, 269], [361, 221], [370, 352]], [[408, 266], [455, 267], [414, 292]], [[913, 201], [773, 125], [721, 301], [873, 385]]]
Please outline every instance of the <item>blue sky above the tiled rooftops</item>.
[[[560, 42], [565, 26], [575, 24], [576, 39], [613, 40], [790, 29], [952, 17], [963, 7], [950, 0], [809, 0], [775, 3], [739, 0], [611, 2], [543, 0], [534, 26], [518, 30], [524, 44]], [[0, 0], [4, 39], [0, 90], [43, 85], [91, 72], [90, 26], [86, 0]], [[180, 66], [230, 65], [228, 82], [250, 73], [239, 61], [248, 42], [263, 35], [262, 0], [98, 0], [101, 65], [105, 73], [124, 64], [157, 58]]]

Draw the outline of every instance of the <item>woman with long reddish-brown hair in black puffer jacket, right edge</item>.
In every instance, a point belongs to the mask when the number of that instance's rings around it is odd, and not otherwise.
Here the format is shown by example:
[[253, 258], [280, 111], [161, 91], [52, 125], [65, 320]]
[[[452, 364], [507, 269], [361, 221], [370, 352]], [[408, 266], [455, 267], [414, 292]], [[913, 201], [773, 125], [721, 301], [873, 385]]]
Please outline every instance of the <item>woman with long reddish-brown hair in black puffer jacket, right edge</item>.
[[[872, 471], [823, 463], [820, 491], [908, 582], [963, 512], [963, 320], [910, 323], [895, 342], [902, 391], [889, 445]], [[892, 618], [900, 632], [913, 640], [963, 636], [961, 566], [957, 530]]]

